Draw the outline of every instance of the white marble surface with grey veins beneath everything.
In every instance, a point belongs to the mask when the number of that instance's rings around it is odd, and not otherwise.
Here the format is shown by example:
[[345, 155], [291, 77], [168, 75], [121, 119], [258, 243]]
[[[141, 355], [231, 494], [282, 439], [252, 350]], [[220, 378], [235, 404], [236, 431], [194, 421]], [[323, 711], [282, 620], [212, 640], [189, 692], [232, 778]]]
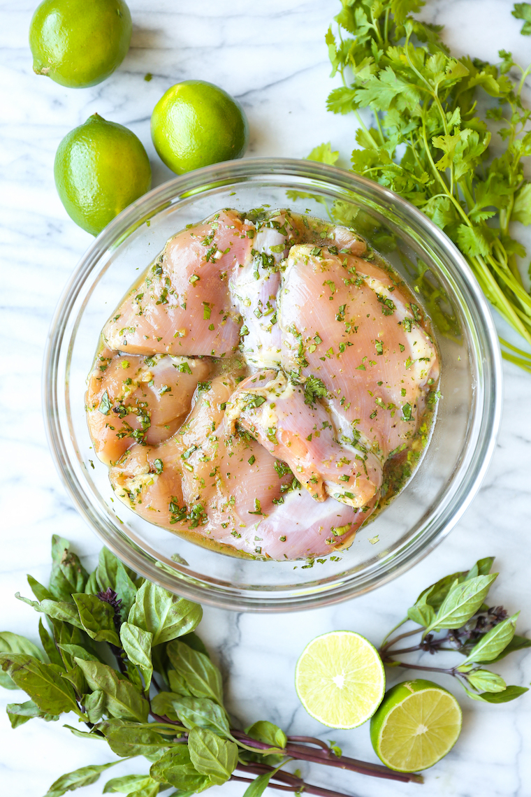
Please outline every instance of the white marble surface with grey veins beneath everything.
[[[34, 5], [32, 0], [0, 2], [0, 626], [37, 641], [37, 616], [14, 599], [14, 592], [27, 592], [28, 572], [41, 581], [48, 578], [50, 536], [56, 532], [72, 540], [88, 565], [100, 548], [57, 476], [41, 420], [41, 359], [49, 320], [91, 241], [57, 198], [53, 157], [61, 138], [96, 111], [127, 124], [146, 146], [154, 184], [162, 183], [171, 175], [150, 142], [150, 112], [166, 88], [186, 78], [211, 80], [239, 97], [252, 132], [248, 155], [303, 157], [330, 139], [348, 157], [354, 123], [325, 110], [334, 81], [328, 77], [323, 36], [338, 11], [335, 0], [131, 0], [134, 33], [126, 60], [109, 80], [85, 90], [61, 88], [33, 75], [27, 30]], [[519, 36], [521, 23], [510, 16], [511, 8], [510, 0], [428, 0], [423, 16], [447, 26], [444, 37], [455, 53], [492, 61], [504, 47], [527, 64], [531, 39]], [[143, 80], [146, 72], [154, 76], [149, 83]], [[478, 556], [497, 556], [502, 575], [494, 600], [510, 611], [521, 608], [519, 628], [531, 633], [531, 376], [510, 365], [504, 371], [502, 433], [489, 473], [467, 515], [431, 556], [388, 586], [336, 607], [280, 616], [205, 611], [201, 633], [225, 673], [229, 705], [242, 724], [268, 718], [291, 733], [333, 736], [347, 754], [375, 760], [367, 725], [330, 732], [306, 716], [293, 686], [300, 651], [314, 635], [337, 628], [380, 642], [421, 588], [470, 567]], [[498, 669], [510, 683], [529, 685], [531, 655], [516, 654]], [[459, 691], [457, 697], [464, 712], [462, 735], [447, 758], [426, 773], [424, 787], [315, 767], [303, 768], [304, 774], [312, 783], [360, 797], [417, 792], [529, 797], [531, 693], [499, 706], [469, 701]], [[21, 699], [15, 692], [0, 694], [2, 707]], [[32, 720], [12, 731], [0, 714], [2, 795], [39, 797], [64, 771], [111, 759], [103, 744], [76, 739], [61, 723]], [[131, 771], [142, 769], [124, 763], [109, 776]], [[100, 795], [104, 782], [80, 794]], [[223, 787], [226, 797], [243, 791], [242, 784]], [[221, 795], [218, 788], [211, 793]]]

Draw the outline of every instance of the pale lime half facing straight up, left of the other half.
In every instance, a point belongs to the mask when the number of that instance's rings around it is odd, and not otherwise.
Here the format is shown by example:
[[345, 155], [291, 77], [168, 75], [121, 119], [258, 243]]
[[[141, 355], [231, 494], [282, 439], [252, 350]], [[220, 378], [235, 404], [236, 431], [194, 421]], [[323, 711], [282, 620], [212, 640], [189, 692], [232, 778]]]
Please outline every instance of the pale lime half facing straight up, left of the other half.
[[299, 700], [329, 728], [357, 728], [373, 716], [385, 693], [376, 648], [353, 631], [330, 631], [310, 642], [295, 668]]

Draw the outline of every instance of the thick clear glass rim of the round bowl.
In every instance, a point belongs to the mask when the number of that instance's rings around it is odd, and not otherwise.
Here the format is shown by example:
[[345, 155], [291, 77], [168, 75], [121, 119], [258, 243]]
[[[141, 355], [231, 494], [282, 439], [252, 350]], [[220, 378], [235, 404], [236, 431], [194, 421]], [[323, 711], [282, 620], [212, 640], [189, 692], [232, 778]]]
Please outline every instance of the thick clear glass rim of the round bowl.
[[[79, 489], [80, 485], [73, 483], [68, 467], [66, 467], [66, 448], [63, 442], [61, 424], [59, 422], [59, 413], [56, 409], [58, 387], [57, 363], [72, 307], [75, 304], [76, 298], [85, 280], [92, 270], [96, 268], [100, 257], [103, 257], [107, 251], [117, 248], [124, 238], [128, 237], [128, 235], [123, 235], [124, 232], [128, 231], [128, 234], [131, 234], [140, 223], [150, 218], [150, 214], [153, 215], [157, 210], [160, 210], [162, 202], [177, 198], [181, 189], [183, 189], [181, 193], [185, 194], [194, 189], [200, 189], [201, 187], [208, 188], [210, 184], [215, 183], [217, 180], [241, 179], [252, 176], [267, 177], [267, 175], [279, 176], [283, 174], [291, 177], [320, 179], [323, 182], [332, 183], [338, 187], [345, 186], [345, 183], [351, 183], [351, 188], [354, 190], [356, 187], [365, 188], [365, 190], [369, 190], [371, 193], [378, 194], [381, 197], [382, 206], [391, 205], [393, 210], [395, 208], [400, 209], [400, 211], [403, 211], [409, 218], [412, 218], [412, 221], [414, 223], [416, 222], [417, 226], [427, 230], [427, 232], [431, 234], [431, 238], [435, 239], [435, 242], [446, 253], [448, 261], [450, 261], [452, 266], [459, 272], [459, 277], [465, 282], [467, 290], [472, 294], [476, 304], [476, 311], [482, 320], [482, 332], [484, 334], [483, 344], [486, 347], [486, 356], [483, 359], [482, 365], [490, 372], [490, 379], [485, 380], [486, 395], [484, 397], [485, 401], [483, 402], [485, 414], [480, 419], [482, 428], [486, 431], [484, 431], [482, 435], [479, 435], [478, 441], [476, 441], [474, 467], [472, 467], [471, 464], [467, 466], [466, 475], [468, 478], [464, 482], [466, 490], [463, 490], [463, 485], [460, 485], [462, 489], [459, 490], [459, 506], [457, 509], [451, 512], [450, 516], [443, 517], [443, 523], [439, 523], [439, 528], [435, 533], [431, 534], [430, 538], [425, 541], [424, 545], [420, 548], [416, 548], [414, 552], [410, 552], [408, 556], [403, 557], [403, 560], [400, 562], [393, 562], [392, 559], [390, 561], [388, 560], [387, 571], [378, 573], [377, 579], [371, 576], [367, 580], [367, 583], [362, 583], [360, 587], [349, 585], [348, 579], [338, 579], [339, 583], [336, 583], [333, 590], [319, 593], [318, 595], [312, 595], [310, 590], [306, 589], [306, 594], [281, 597], [275, 595], [275, 591], [271, 589], [271, 594], [273, 595], [271, 598], [267, 595], [267, 587], [264, 587], [264, 590], [256, 591], [254, 595], [247, 595], [244, 599], [242, 599], [241, 595], [221, 596], [217, 593], [210, 595], [208, 592], [205, 593], [205, 589], [209, 589], [210, 587], [201, 586], [197, 588], [193, 585], [190, 586], [189, 583], [184, 580], [182, 582], [179, 581], [176, 585], [174, 583], [174, 575], [171, 576], [172, 580], [170, 581], [168, 579], [168, 574], [166, 574], [163, 569], [154, 567], [153, 569], [155, 572], [151, 572], [149, 567], [145, 567], [142, 557], [138, 556], [137, 552], [135, 552], [134, 544], [131, 544], [131, 548], [126, 548], [122, 544], [116, 544], [114, 540], [108, 540], [100, 531], [98, 524], [92, 519], [90, 507], [86, 500], [86, 493], [84, 493], [83, 489]], [[143, 194], [142, 197], [116, 216], [95, 240], [92, 241], [91, 245], [88, 246], [88, 249], [85, 250], [84, 254], [77, 262], [76, 268], [61, 292], [57, 307], [53, 313], [45, 346], [42, 395], [46, 436], [48, 438], [49, 449], [52, 453], [54, 464], [61, 476], [61, 481], [85, 522], [88, 523], [92, 531], [100, 537], [103, 544], [109, 548], [115, 556], [118, 556], [119, 559], [122, 559], [127, 565], [132, 567], [136, 572], [139, 572], [139, 574], [143, 575], [146, 579], [158, 583], [169, 591], [174, 593], [177, 592], [179, 595], [184, 595], [199, 603], [206, 603], [233, 611], [302, 611], [338, 603], [357, 595], [365, 594], [365, 592], [376, 587], [383, 586], [383, 584], [397, 578], [421, 559], [424, 559], [424, 556], [428, 556], [451, 530], [455, 528], [455, 525], [463, 517], [463, 514], [467, 511], [470, 503], [478, 493], [478, 489], [486, 475], [496, 447], [502, 418], [502, 357], [489, 304], [470, 266], [467, 264], [462, 253], [459, 252], [459, 249], [457, 249], [443, 230], [440, 230], [428, 216], [423, 214], [410, 202], [400, 197], [399, 194], [395, 194], [394, 191], [385, 186], [380, 186], [372, 180], [355, 175], [351, 171], [332, 167], [327, 164], [306, 159], [272, 157], [245, 158], [239, 161], [216, 163], [212, 166], [189, 172], [186, 175], [175, 177], [166, 183], [162, 183], [160, 186], [156, 186], [147, 194]], [[478, 442], [481, 442], [481, 446], [478, 446]], [[479, 460], [477, 458], [478, 454], [481, 454]], [[446, 515], [448, 515], [447, 512]], [[143, 552], [143, 556], [150, 555]], [[385, 559], [382, 559], [382, 561], [385, 561]], [[304, 591], [302, 590], [301, 593], [304, 593]]]

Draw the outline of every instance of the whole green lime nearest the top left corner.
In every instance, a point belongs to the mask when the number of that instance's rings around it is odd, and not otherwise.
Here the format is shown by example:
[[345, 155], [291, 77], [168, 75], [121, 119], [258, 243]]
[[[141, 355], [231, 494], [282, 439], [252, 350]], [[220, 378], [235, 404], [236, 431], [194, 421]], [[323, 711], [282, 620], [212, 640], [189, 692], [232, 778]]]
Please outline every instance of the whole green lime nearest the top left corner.
[[33, 72], [68, 88], [101, 83], [126, 56], [131, 14], [123, 0], [44, 0], [29, 25]]

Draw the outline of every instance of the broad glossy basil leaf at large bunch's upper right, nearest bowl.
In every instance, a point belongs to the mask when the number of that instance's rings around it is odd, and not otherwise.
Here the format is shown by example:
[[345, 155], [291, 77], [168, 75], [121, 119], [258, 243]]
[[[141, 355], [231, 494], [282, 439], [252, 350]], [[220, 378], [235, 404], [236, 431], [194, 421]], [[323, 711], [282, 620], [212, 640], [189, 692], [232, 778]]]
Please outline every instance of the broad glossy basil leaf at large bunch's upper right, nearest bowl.
[[201, 616], [202, 610], [197, 603], [145, 581], [136, 593], [127, 621], [153, 634], [155, 646], [192, 631]]

